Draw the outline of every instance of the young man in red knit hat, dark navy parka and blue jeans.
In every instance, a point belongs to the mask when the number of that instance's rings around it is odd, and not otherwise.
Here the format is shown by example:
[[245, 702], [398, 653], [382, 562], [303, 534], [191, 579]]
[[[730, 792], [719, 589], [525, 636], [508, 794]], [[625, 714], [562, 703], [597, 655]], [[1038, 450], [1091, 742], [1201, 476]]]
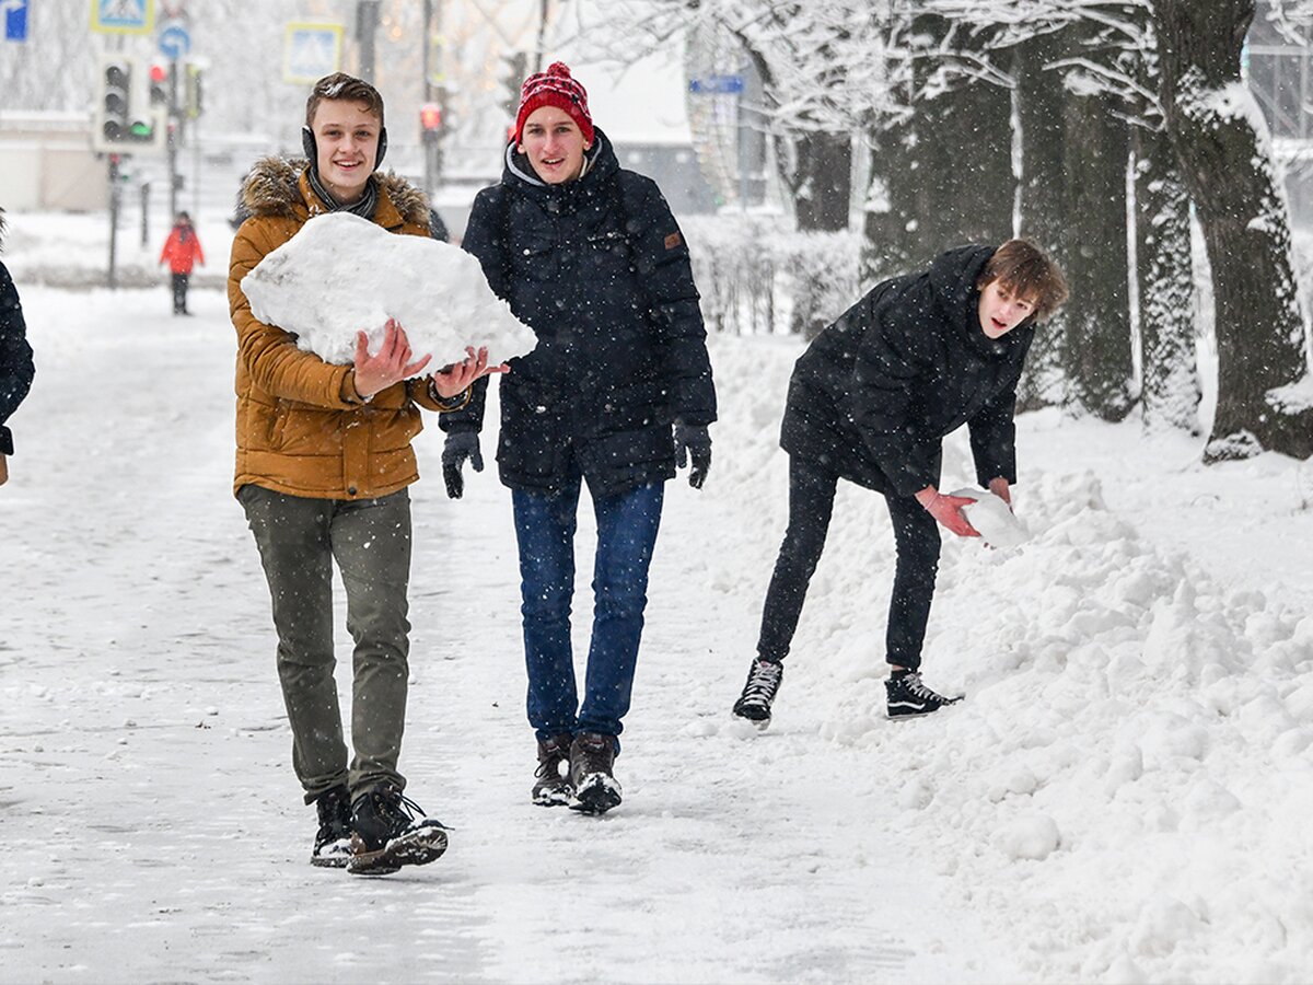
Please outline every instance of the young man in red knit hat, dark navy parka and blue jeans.
[[[533, 328], [499, 383], [498, 471], [520, 553], [528, 713], [538, 741], [530, 797], [601, 814], [629, 711], [666, 482], [712, 461], [716, 390], [688, 247], [651, 179], [620, 167], [588, 95], [557, 62], [530, 75], [502, 181], [474, 200], [465, 250]], [[444, 414], [448, 494], [479, 470], [484, 386]], [[578, 686], [570, 640], [582, 486], [597, 520], [593, 620]]]

